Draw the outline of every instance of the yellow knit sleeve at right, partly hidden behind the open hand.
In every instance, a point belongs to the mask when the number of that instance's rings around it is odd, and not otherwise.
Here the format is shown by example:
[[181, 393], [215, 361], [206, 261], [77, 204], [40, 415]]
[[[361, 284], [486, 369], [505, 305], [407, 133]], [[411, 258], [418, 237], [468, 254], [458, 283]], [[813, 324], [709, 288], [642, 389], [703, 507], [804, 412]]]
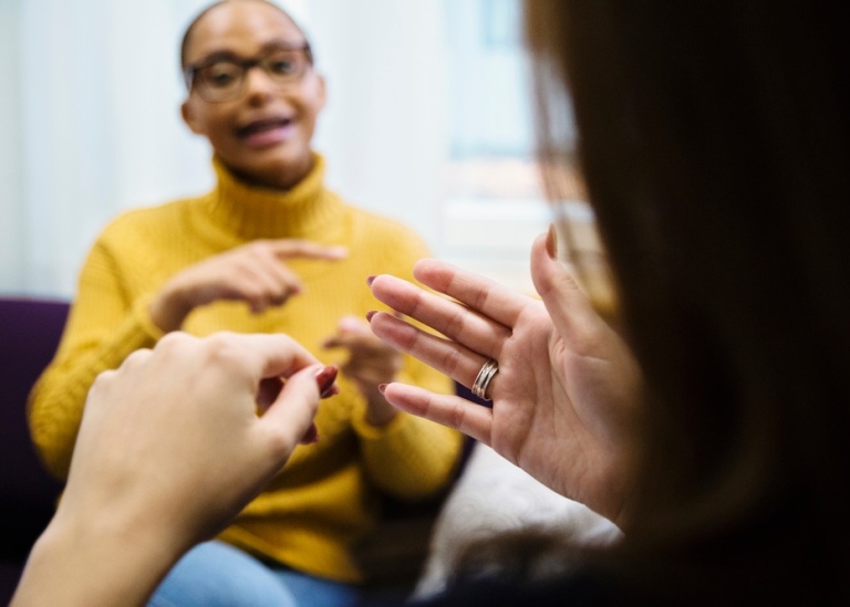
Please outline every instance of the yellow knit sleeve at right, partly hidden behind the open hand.
[[[429, 255], [425, 243], [411, 230], [395, 227], [384, 230], [384, 259], [392, 260], [382, 272], [414, 281], [413, 265]], [[413, 357], [396, 380], [437, 394], [454, 394], [450, 378]], [[418, 500], [438, 493], [454, 478], [463, 448], [463, 435], [426, 419], [398, 412], [384, 427], [365, 421], [365, 406], [353, 417], [361, 439], [366, 472], [374, 484], [390, 495]]]

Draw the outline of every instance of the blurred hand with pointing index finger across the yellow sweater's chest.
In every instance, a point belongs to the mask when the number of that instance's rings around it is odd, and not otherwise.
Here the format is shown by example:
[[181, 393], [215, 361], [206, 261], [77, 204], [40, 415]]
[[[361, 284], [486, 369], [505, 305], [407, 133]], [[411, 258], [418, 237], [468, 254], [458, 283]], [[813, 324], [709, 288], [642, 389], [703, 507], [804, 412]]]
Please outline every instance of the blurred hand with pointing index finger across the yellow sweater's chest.
[[168, 333], [180, 328], [198, 306], [219, 300], [246, 302], [260, 313], [301, 292], [299, 278], [283, 263], [290, 259], [336, 261], [344, 247], [307, 240], [257, 240], [198, 262], [175, 274], [151, 303], [151, 318]]

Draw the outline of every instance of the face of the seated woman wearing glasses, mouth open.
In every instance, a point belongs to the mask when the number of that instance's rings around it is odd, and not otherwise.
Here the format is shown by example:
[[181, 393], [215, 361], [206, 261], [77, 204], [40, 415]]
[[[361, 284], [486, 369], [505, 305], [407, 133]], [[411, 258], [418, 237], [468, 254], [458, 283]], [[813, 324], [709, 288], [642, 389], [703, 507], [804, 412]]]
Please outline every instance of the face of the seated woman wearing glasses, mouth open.
[[[301, 30], [277, 8], [263, 2], [227, 2], [195, 24], [186, 65], [219, 53], [258, 59], [276, 45], [305, 42]], [[310, 142], [324, 106], [324, 82], [310, 66], [300, 81], [274, 84], [257, 66], [246, 73], [240, 96], [210, 103], [193, 86], [182, 111], [194, 133], [209, 139], [216, 155], [241, 179], [288, 189], [312, 168]]]

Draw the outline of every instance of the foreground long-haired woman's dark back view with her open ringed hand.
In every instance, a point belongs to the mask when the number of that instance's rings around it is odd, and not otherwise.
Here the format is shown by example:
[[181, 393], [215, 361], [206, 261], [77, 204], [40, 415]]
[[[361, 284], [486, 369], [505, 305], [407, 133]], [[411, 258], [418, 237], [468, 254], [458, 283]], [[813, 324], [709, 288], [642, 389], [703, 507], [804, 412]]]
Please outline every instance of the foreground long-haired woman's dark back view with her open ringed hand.
[[[371, 286], [445, 338], [386, 313], [372, 328], [493, 408], [382, 389], [625, 538], [547, 584], [484, 579], [434, 604], [847, 604], [846, 11], [528, 0], [527, 14], [545, 126], [570, 85], [625, 338], [553, 238], [531, 253], [542, 302], [424, 261], [417, 278], [465, 305], [388, 275]], [[542, 133], [557, 196], [561, 139]]]

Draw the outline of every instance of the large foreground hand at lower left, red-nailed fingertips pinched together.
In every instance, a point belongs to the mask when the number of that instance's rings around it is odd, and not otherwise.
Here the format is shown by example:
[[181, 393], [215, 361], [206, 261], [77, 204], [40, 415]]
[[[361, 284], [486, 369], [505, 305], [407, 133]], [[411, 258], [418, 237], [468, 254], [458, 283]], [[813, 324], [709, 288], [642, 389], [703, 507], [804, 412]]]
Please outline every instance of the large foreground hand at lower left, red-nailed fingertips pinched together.
[[173, 333], [101, 374], [13, 605], [144, 604], [313, 440], [335, 374], [284, 335], [232, 333]]

